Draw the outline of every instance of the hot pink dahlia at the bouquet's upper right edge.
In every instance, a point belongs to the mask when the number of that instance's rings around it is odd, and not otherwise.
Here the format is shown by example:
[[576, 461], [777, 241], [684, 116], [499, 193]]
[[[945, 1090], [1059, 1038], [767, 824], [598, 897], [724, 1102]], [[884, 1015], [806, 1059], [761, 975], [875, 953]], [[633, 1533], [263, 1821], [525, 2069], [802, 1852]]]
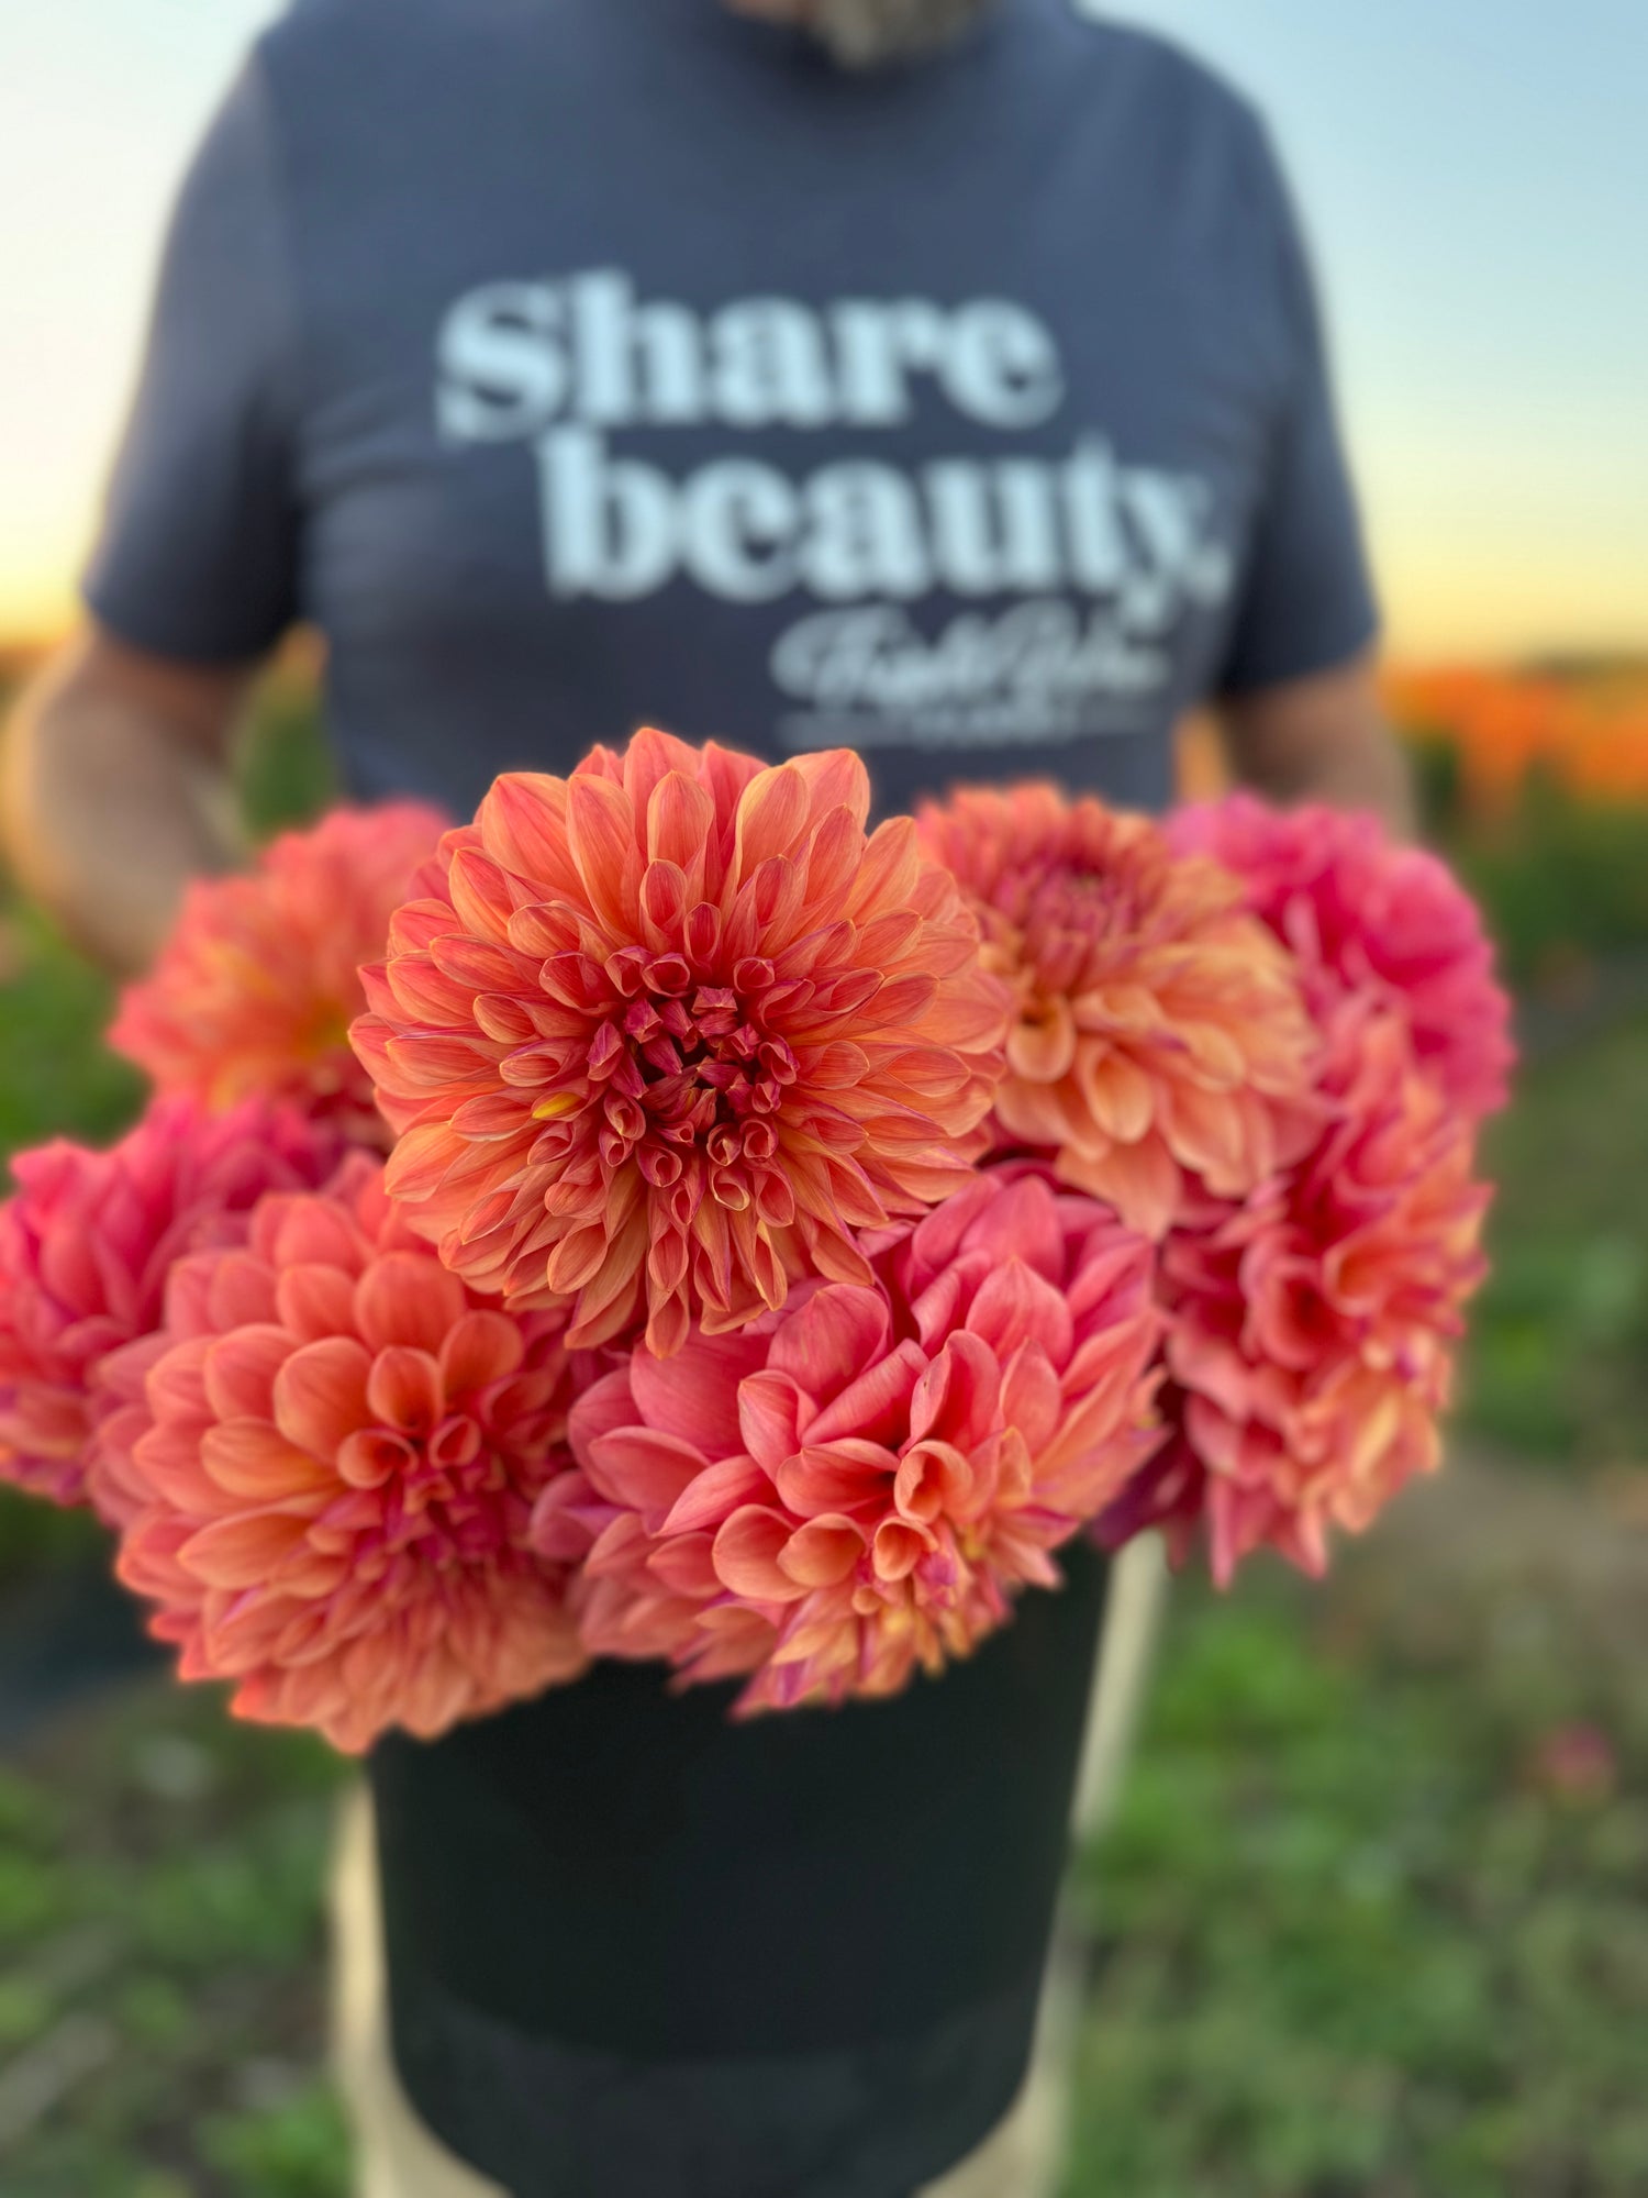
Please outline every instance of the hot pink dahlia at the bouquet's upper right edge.
[[1510, 1000], [1481, 912], [1444, 862], [1395, 846], [1373, 815], [1270, 809], [1252, 793], [1182, 809], [1180, 853], [1211, 855], [1299, 958], [1318, 1020], [1347, 996], [1400, 1009], [1419, 1068], [1481, 1121], [1505, 1103]]

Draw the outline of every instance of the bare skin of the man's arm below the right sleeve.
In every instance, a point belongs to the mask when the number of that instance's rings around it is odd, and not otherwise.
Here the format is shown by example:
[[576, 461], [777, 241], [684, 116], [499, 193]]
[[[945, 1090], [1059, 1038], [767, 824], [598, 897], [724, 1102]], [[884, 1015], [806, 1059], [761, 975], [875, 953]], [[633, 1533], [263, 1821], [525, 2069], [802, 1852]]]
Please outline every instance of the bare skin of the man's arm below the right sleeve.
[[1231, 695], [1220, 730], [1235, 776], [1274, 802], [1373, 809], [1391, 831], [1415, 826], [1413, 778], [1380, 703], [1373, 659]]

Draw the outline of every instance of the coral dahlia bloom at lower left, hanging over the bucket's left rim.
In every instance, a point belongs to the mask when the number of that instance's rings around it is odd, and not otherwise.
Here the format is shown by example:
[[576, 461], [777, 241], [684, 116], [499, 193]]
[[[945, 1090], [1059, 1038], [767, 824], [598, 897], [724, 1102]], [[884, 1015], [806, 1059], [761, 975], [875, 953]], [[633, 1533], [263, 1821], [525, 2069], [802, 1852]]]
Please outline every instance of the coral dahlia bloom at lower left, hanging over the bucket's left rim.
[[563, 1328], [477, 1303], [367, 1154], [264, 1198], [242, 1251], [185, 1262], [119, 1563], [182, 1677], [347, 1752], [571, 1679], [563, 1572], [525, 1550], [567, 1420]]

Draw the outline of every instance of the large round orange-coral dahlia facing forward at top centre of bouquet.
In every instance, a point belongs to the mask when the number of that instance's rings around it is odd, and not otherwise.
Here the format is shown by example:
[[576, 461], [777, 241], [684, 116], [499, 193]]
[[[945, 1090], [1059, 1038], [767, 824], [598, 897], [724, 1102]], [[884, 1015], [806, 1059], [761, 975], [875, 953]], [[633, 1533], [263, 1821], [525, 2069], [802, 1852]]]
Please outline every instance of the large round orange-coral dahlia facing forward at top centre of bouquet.
[[391, 1194], [477, 1288], [655, 1354], [868, 1286], [853, 1242], [984, 1150], [1006, 1000], [857, 756], [765, 769], [639, 732], [505, 776], [396, 917], [354, 1029]]

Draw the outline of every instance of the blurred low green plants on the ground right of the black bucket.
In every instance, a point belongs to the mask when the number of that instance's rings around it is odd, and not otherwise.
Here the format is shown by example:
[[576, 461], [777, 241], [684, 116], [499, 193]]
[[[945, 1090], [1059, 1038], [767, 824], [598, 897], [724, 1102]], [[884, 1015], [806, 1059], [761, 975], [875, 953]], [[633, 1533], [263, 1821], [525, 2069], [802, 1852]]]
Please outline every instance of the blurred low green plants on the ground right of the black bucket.
[[[1332, 1609], [1332, 1605], [1329, 1605]], [[1595, 1675], [1189, 1598], [1114, 1831], [1070, 2198], [1635, 2198], [1648, 1813], [1529, 1780]]]

